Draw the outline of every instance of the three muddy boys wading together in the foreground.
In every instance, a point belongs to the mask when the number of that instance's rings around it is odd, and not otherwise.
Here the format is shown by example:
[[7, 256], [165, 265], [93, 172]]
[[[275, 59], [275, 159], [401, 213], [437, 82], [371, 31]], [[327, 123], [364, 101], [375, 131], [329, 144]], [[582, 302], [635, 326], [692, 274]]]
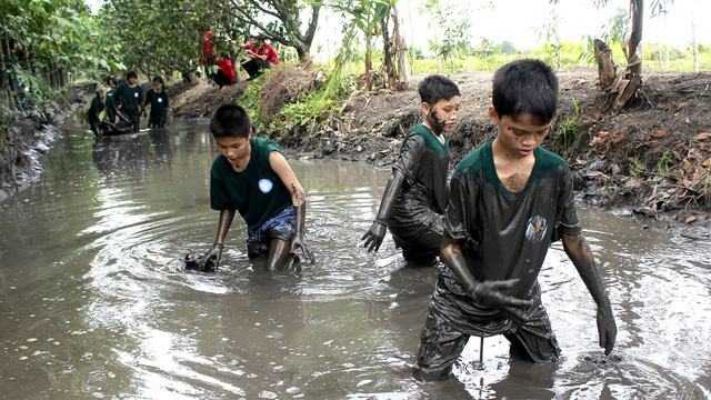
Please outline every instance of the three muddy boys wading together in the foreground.
[[[558, 78], [538, 60], [519, 60], [493, 78], [488, 116], [498, 134], [461, 160], [448, 184], [447, 134], [461, 107], [457, 84], [429, 76], [419, 84], [423, 121], [404, 138], [375, 220], [362, 238], [378, 251], [385, 230], [408, 262], [440, 269], [421, 333], [413, 377], [450, 374], [471, 336], [503, 334], [514, 358], [555, 362], [560, 349], [541, 302], [538, 274], [561, 240], [597, 304], [599, 344], [612, 351], [617, 326], [590, 247], [581, 234], [568, 163], [541, 148], [558, 104]], [[211, 249], [198, 260], [217, 267], [236, 211], [247, 222], [248, 254], [269, 270], [290, 270], [304, 239], [304, 190], [269, 139], [252, 136], [240, 106], [220, 107], [210, 129], [219, 154], [210, 204], [220, 211]]]

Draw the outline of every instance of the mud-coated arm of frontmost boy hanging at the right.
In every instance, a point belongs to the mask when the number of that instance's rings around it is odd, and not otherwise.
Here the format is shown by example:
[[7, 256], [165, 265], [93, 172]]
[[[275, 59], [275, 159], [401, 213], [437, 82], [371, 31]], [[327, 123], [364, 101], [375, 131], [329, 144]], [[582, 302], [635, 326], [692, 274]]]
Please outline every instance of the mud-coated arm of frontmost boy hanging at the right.
[[604, 286], [598, 274], [595, 260], [588, 242], [581, 234], [562, 234], [563, 249], [575, 266], [580, 278], [588, 287], [592, 299], [598, 304], [598, 333], [600, 336], [600, 347], [604, 348], [604, 353], [609, 354], [614, 347], [618, 328], [612, 316], [610, 300], [604, 291]]

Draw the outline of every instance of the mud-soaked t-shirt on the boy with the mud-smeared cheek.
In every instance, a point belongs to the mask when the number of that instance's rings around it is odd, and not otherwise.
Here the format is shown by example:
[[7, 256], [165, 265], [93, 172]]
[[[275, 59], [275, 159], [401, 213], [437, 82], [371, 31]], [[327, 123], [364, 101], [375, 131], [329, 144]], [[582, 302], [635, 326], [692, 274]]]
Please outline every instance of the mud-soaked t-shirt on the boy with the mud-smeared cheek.
[[449, 146], [440, 141], [425, 126], [410, 129], [400, 146], [400, 157], [392, 167], [402, 172], [405, 182], [393, 204], [393, 217], [412, 213], [408, 203], [414, 201], [437, 213], [447, 207], [447, 173]]

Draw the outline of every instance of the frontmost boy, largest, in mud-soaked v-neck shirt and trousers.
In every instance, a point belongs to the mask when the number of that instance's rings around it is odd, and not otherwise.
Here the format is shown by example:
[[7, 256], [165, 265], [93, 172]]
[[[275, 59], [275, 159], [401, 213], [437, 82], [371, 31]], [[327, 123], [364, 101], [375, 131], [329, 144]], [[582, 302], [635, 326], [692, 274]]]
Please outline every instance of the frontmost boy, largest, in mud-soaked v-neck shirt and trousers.
[[565, 161], [539, 146], [558, 103], [558, 79], [540, 61], [520, 60], [493, 79], [493, 142], [454, 169], [444, 214], [440, 271], [413, 377], [444, 379], [470, 336], [503, 334], [511, 356], [558, 361], [560, 349], [541, 303], [538, 273], [562, 239], [598, 306], [600, 347], [617, 327], [595, 262], [581, 236]]

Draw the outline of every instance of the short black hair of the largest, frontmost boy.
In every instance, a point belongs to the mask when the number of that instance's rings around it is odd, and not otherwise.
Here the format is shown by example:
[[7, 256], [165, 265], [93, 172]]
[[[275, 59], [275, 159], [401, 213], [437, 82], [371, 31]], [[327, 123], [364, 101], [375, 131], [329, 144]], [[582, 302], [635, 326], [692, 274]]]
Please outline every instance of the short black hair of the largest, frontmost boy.
[[537, 123], [548, 123], [558, 107], [558, 78], [540, 60], [509, 62], [493, 76], [492, 102], [499, 118], [530, 114]]

